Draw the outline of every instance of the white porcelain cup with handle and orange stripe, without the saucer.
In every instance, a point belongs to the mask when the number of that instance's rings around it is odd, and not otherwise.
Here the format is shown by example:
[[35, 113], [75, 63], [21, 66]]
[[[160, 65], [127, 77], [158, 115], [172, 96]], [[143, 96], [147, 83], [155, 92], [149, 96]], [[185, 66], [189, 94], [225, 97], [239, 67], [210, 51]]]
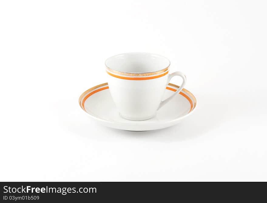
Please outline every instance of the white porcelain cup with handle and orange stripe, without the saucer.
[[[184, 88], [186, 77], [182, 72], [169, 73], [170, 61], [157, 54], [124, 53], [105, 62], [109, 74], [108, 85], [120, 116], [142, 121], [156, 115], [159, 108]], [[180, 88], [162, 101], [167, 84], [174, 76], [183, 78]]]

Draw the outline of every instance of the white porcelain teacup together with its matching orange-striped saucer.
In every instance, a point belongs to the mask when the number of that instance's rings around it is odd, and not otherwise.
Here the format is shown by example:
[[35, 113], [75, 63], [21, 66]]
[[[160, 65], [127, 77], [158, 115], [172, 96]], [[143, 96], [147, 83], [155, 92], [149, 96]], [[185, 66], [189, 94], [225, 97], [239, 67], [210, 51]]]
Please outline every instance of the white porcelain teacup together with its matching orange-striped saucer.
[[[157, 54], [124, 53], [105, 62], [107, 83], [86, 90], [80, 107], [102, 125], [130, 131], [167, 128], [191, 115], [196, 98], [184, 89], [182, 72], [169, 74], [170, 61]], [[174, 76], [181, 86], [169, 83]]]

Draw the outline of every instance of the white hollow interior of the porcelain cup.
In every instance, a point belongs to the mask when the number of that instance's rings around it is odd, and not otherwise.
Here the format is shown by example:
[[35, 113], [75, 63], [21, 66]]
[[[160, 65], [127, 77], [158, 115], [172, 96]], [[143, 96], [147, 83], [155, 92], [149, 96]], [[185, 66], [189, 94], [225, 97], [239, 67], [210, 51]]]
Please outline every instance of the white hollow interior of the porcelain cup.
[[169, 59], [150, 53], [124, 53], [112, 56], [105, 62], [108, 68], [127, 73], [155, 72], [167, 68]]

